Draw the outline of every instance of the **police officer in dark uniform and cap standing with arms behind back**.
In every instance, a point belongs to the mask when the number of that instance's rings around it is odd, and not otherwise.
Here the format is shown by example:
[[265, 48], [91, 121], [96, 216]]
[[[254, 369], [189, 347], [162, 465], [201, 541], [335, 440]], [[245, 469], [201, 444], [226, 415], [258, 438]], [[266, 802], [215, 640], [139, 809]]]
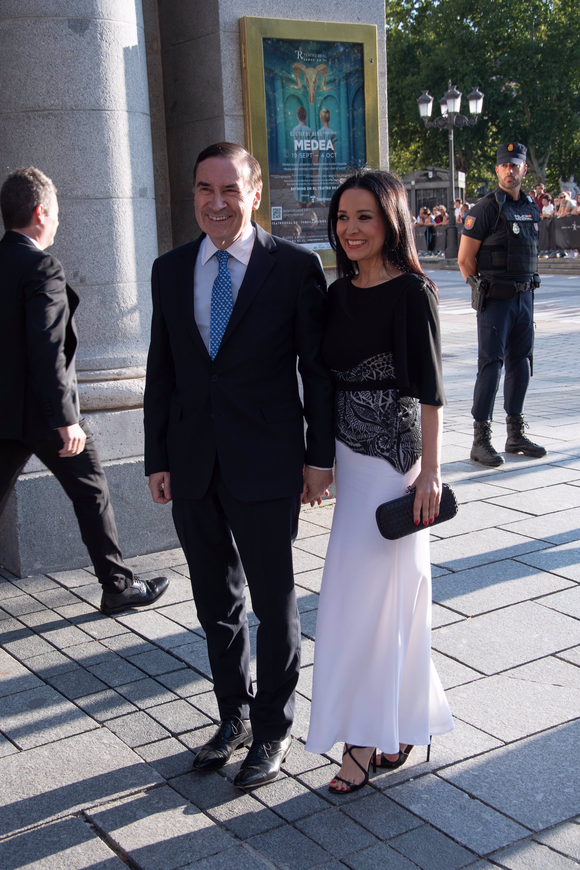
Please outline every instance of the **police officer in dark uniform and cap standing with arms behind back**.
[[531, 197], [520, 192], [527, 170], [525, 145], [510, 142], [499, 146], [499, 184], [466, 215], [459, 245], [459, 268], [474, 290], [472, 304], [477, 308], [470, 457], [490, 467], [504, 461], [491, 444], [493, 405], [504, 363], [503, 407], [508, 415], [505, 452], [533, 458], [547, 453], [526, 438], [522, 413], [534, 346], [533, 288], [539, 284], [540, 210]]

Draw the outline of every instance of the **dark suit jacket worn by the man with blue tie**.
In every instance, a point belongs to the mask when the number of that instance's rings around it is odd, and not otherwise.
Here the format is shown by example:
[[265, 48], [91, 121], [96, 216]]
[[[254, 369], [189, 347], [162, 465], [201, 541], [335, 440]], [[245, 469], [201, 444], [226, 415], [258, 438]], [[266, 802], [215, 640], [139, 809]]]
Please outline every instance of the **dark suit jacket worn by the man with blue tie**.
[[316, 254], [254, 225], [250, 262], [213, 362], [194, 318], [203, 236], [153, 264], [145, 474], [169, 471], [171, 491], [184, 499], [207, 491], [216, 454], [230, 492], [244, 501], [296, 495], [304, 462], [330, 468], [334, 461], [334, 388], [321, 356], [323, 268]]

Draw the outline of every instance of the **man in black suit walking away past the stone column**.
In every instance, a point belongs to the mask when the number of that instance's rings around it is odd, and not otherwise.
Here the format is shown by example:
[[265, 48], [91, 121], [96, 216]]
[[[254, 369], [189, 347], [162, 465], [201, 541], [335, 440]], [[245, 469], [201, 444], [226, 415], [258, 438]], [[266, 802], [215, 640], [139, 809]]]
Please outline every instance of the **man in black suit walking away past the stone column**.
[[80, 416], [73, 314], [78, 297], [44, 249], [58, 227], [57, 189], [30, 167], [0, 191], [0, 513], [33, 453], [63, 486], [103, 585], [101, 611], [150, 604], [169, 581], [135, 578], [123, 563], [109, 487]]

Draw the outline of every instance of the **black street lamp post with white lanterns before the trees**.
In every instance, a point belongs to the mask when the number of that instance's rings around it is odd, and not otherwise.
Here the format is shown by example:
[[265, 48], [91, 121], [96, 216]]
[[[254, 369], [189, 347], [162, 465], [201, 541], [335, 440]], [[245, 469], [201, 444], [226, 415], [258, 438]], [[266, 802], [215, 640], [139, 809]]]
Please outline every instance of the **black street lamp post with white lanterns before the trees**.
[[453, 142], [453, 130], [455, 127], [473, 127], [477, 124], [477, 118], [481, 115], [483, 107], [483, 93], [479, 88], [474, 88], [469, 97], [470, 114], [472, 117], [466, 117], [460, 113], [461, 97], [463, 96], [460, 90], [457, 90], [454, 84], [449, 80], [449, 89], [443, 95], [443, 99], [439, 100], [441, 106], [441, 117], [436, 117], [430, 121], [431, 111], [433, 110], [433, 97], [430, 96], [427, 90], [423, 90], [421, 96], [417, 99], [419, 104], [419, 115], [423, 118], [425, 127], [438, 127], [439, 130], [449, 131], [449, 228], [447, 234], [450, 238], [447, 239], [445, 251], [451, 257], [457, 257], [457, 224], [455, 219], [455, 152]]

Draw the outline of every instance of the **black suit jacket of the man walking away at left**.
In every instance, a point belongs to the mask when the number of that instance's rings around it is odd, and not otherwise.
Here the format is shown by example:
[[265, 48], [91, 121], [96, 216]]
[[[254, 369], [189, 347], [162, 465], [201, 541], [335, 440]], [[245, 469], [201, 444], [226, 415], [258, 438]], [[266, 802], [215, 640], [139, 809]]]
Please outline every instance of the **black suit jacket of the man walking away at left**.
[[54, 438], [80, 418], [72, 316], [62, 265], [20, 232], [0, 241], [0, 438]]

